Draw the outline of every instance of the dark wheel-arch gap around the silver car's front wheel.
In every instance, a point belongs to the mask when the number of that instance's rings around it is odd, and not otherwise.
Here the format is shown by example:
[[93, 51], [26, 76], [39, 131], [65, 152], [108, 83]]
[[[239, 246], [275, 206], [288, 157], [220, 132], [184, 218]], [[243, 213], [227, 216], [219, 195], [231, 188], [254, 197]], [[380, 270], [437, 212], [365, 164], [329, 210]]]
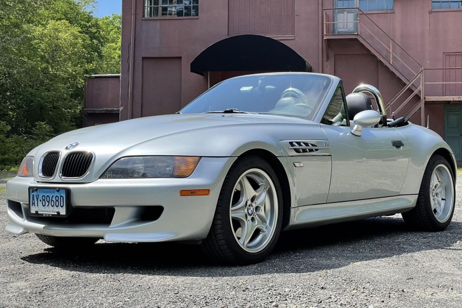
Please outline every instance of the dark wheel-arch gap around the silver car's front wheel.
[[249, 151], [246, 151], [239, 155], [239, 157], [244, 157], [244, 156], [258, 156], [265, 161], [267, 161], [271, 167], [273, 168], [274, 172], [276, 173], [277, 179], [279, 180], [279, 185], [282, 190], [283, 194], [283, 224], [282, 224], [282, 230], [287, 227], [290, 221], [290, 209], [291, 209], [291, 193], [290, 193], [290, 184], [289, 184], [289, 178], [287, 177], [286, 170], [284, 169], [283, 164], [277, 159], [277, 157], [264, 149], [252, 149]]

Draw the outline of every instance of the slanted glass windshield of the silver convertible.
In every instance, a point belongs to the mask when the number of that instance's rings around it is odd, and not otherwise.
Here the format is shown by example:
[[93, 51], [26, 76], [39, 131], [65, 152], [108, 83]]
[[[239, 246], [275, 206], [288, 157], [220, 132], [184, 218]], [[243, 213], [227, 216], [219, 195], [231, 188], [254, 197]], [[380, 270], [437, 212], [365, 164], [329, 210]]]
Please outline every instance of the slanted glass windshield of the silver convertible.
[[180, 112], [269, 113], [312, 120], [331, 84], [331, 78], [316, 74], [237, 77], [214, 86]]

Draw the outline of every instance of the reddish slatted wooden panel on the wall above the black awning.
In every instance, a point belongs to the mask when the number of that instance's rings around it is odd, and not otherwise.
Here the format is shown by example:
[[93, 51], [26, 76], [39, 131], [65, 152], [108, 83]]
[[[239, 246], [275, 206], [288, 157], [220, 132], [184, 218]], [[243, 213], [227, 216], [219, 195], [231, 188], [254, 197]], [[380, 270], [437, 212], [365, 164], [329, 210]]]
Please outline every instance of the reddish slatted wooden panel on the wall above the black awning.
[[228, 36], [294, 35], [294, 0], [229, 0]]

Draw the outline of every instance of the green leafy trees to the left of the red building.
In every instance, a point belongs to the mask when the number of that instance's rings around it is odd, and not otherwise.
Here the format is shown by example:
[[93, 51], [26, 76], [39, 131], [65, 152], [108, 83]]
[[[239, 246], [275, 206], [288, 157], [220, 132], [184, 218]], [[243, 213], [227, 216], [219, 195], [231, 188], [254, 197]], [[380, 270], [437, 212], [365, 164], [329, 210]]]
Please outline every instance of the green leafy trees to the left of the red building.
[[121, 16], [92, 0], [0, 1], [0, 170], [81, 126], [84, 80], [120, 72]]

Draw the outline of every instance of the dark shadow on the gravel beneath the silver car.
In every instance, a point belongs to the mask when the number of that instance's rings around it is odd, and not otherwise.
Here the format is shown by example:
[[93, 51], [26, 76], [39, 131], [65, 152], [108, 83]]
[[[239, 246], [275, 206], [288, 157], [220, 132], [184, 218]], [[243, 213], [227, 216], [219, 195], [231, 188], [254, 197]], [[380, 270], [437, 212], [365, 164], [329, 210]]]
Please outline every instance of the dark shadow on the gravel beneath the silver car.
[[[26, 262], [68, 271], [195, 277], [248, 276], [330, 270], [354, 262], [450, 248], [461, 240], [462, 222], [443, 232], [413, 232], [397, 217], [377, 217], [281, 234], [263, 262], [226, 266], [210, 261], [198, 245], [177, 243], [97, 243], [87, 250], [47, 248], [23, 256]], [[296, 266], [287, 266], [287, 263]]]

